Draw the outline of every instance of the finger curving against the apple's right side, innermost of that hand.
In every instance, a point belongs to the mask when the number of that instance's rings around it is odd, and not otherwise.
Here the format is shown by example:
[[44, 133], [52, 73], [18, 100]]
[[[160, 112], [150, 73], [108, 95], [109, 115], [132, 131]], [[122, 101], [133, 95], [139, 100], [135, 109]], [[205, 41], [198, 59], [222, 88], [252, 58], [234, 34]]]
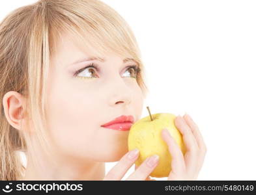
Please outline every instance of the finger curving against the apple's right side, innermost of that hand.
[[163, 129], [162, 138], [167, 143], [169, 153], [171, 154], [171, 172], [169, 175], [184, 174], [184, 172], [186, 172], [186, 164], [184, 162], [183, 153], [180, 150], [177, 142], [173, 136], [170, 135], [167, 129]]

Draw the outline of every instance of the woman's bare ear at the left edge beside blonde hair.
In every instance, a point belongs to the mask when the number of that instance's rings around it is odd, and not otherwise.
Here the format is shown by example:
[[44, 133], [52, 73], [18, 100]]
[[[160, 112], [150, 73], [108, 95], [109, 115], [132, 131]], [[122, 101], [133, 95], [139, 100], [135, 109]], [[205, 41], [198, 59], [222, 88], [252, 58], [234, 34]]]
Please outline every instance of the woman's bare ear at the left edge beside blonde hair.
[[21, 121], [25, 118], [25, 98], [18, 92], [7, 92], [3, 97], [3, 108], [8, 123], [15, 129], [21, 130]]

